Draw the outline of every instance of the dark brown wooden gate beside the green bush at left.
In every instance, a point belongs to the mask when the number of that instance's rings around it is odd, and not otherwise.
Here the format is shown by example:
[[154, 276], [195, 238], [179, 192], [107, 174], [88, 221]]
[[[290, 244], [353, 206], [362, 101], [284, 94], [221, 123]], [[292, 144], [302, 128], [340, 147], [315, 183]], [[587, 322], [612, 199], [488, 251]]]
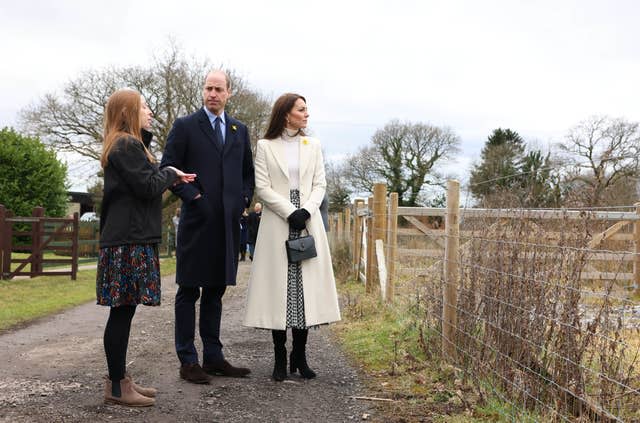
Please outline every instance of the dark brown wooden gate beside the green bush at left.
[[[45, 252], [69, 258], [45, 257]], [[16, 258], [12, 253], [29, 255]], [[28, 264], [30, 268], [25, 270]], [[45, 265], [50, 264], [70, 265], [71, 270], [45, 270]], [[30, 217], [13, 217], [13, 213], [0, 204], [0, 269], [1, 279], [68, 275], [75, 280], [78, 272], [78, 213], [71, 218], [45, 217], [44, 209], [36, 207]]]

